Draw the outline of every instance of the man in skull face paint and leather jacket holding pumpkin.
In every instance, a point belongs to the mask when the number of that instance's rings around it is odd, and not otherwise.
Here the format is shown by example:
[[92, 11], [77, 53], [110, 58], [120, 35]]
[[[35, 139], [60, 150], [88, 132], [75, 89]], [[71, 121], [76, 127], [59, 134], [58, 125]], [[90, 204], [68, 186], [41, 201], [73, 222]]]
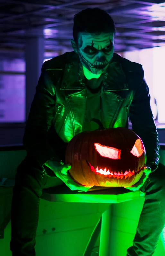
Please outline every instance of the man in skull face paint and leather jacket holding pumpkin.
[[133, 131], [143, 140], [144, 175], [127, 189], [141, 189], [145, 202], [127, 256], [154, 253], [165, 226], [165, 166], [159, 164], [158, 133], [143, 67], [114, 53], [114, 35], [109, 14], [98, 8], [83, 10], [74, 17], [74, 51], [42, 66], [23, 138], [27, 156], [13, 188], [12, 256], [35, 255], [39, 197], [48, 177], [58, 177], [71, 190], [88, 190], [67, 174], [71, 165], [65, 164], [65, 150], [73, 136], [98, 128], [90, 122], [92, 117], [105, 128], [128, 127], [130, 117]]

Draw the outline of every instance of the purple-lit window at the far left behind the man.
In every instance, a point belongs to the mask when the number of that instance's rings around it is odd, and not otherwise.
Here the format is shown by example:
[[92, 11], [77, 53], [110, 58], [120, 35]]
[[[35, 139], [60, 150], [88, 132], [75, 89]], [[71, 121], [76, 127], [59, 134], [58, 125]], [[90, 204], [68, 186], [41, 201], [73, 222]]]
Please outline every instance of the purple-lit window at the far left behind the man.
[[0, 122], [25, 122], [23, 59], [0, 59]]

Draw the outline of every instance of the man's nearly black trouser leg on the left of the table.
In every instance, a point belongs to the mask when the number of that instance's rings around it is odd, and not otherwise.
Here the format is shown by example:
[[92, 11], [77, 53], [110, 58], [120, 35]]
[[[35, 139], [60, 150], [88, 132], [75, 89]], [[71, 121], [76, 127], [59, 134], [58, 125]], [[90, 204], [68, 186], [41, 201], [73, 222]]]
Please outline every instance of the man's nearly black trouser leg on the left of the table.
[[42, 189], [61, 184], [64, 183], [58, 177], [43, 175], [39, 164], [29, 158], [18, 166], [11, 205], [12, 256], [36, 255], [34, 246]]

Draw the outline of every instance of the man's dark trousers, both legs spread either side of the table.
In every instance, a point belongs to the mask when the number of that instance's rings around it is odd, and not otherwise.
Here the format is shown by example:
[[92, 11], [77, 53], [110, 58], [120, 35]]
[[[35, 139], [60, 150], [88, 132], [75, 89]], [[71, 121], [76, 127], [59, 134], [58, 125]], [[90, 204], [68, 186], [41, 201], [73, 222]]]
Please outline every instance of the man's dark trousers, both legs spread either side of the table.
[[[33, 166], [33, 167], [32, 167]], [[145, 202], [140, 215], [133, 246], [127, 256], [151, 256], [165, 226], [165, 166], [149, 175], [141, 187]], [[57, 178], [50, 178], [56, 180]], [[24, 160], [17, 168], [11, 209], [12, 256], [35, 256], [35, 237], [39, 216], [39, 197], [48, 187], [48, 177], [36, 164]], [[53, 186], [53, 185], [50, 185]]]

